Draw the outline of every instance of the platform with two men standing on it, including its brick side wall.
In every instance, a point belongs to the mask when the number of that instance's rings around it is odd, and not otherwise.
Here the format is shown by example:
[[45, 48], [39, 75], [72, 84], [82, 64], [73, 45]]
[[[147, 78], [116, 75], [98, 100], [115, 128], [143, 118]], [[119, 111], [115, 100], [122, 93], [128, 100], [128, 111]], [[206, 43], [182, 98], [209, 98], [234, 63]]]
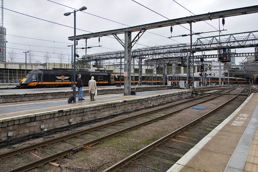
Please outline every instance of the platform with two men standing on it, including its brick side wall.
[[44, 133], [58, 127], [76, 126], [87, 121], [191, 96], [192, 90], [189, 89], [167, 89], [136, 92], [136, 95], [131, 96], [100, 95], [95, 96], [95, 101], [91, 101], [89, 96], [84, 96], [85, 100], [76, 100], [74, 103], [68, 103], [68, 97], [66, 97], [0, 104], [0, 137], [5, 140], [33, 133]]

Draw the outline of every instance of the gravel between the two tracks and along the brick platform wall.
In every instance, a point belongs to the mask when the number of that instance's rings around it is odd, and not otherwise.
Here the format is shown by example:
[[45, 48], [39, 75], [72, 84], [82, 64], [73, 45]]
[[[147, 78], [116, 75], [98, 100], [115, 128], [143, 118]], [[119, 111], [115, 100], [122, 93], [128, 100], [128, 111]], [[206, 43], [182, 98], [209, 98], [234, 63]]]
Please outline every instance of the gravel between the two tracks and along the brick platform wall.
[[[154, 109], [158, 109], [161, 107], [167, 107], [169, 105], [178, 103], [180, 101], [185, 100], [179, 100], [174, 103], [166, 104], [159, 107], [154, 107]], [[64, 168], [65, 166], [70, 168], [83, 168], [83, 169], [91, 169], [96, 166], [100, 166], [106, 162], [111, 162], [108, 164], [105, 164], [104, 166], [101, 166], [98, 171], [102, 171], [108, 166], [111, 166], [115, 164], [116, 162], [119, 162], [121, 159], [127, 157], [131, 153], [138, 151], [139, 149], [145, 147], [147, 144], [156, 141], [157, 139], [169, 134], [170, 132], [174, 131], [175, 129], [182, 127], [186, 123], [191, 122], [193, 119], [196, 119], [200, 117], [201, 115], [209, 112], [211, 109], [216, 108], [219, 104], [221, 104], [220, 100], [213, 100], [212, 102], [208, 102], [205, 104], [199, 104], [198, 106], [206, 107], [204, 110], [194, 110], [192, 108], [183, 110], [181, 113], [174, 114], [168, 118], [159, 120], [155, 123], [151, 123], [147, 126], [140, 127], [138, 130], [131, 131], [129, 133], [125, 133], [122, 136], [115, 137], [114, 139], [109, 139], [108, 141], [105, 141], [101, 144], [94, 145], [90, 149], [84, 149], [83, 151], [77, 152], [73, 154], [70, 158], [65, 158], [61, 161], [57, 161], [58, 164], [60, 164], [63, 167], [63, 172], [70, 172], [71, 170], [68, 170]], [[137, 112], [133, 112], [131, 114], [127, 115], [121, 115], [118, 117], [115, 117], [113, 119], [109, 119], [103, 122], [92, 124], [88, 127], [80, 127], [78, 129], [83, 130], [89, 127], [95, 127], [104, 123], [109, 123], [111, 121], [115, 121], [118, 119], [123, 119], [132, 115], [140, 114], [149, 111], [149, 109], [141, 110]], [[69, 134], [73, 131], [65, 131], [62, 133], [55, 134], [55, 137], [58, 135], [65, 135]], [[26, 143], [39, 143], [44, 141], [45, 139], [39, 138], [39, 139], [33, 139], [30, 141], [27, 141]], [[25, 145], [27, 146], [27, 145]], [[58, 148], [58, 147], [57, 147]], [[62, 148], [59, 148], [62, 149]], [[10, 151], [10, 149], [2, 149], [0, 150], [0, 154], [6, 151]], [[106, 155], [106, 156], [105, 156]], [[1, 166], [2, 168], [3, 166]], [[45, 165], [49, 170], [47, 172], [59, 172], [60, 168], [56, 168], [53, 166]], [[160, 169], [163, 171], [162, 169]], [[35, 168], [33, 170], [29, 170], [30, 172], [39, 172], [41, 171], [38, 168]], [[87, 170], [83, 170], [87, 171]], [[90, 170], [89, 170], [90, 171]], [[88, 171], [87, 171], [88, 172]]]

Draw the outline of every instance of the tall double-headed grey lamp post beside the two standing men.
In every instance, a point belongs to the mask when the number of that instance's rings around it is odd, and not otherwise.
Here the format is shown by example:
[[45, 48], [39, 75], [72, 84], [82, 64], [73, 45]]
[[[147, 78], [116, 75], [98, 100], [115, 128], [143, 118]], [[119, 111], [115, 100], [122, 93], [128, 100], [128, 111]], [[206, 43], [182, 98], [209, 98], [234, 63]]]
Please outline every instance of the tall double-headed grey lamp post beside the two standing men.
[[[74, 39], [73, 39], [73, 41], [74, 41], [74, 43], [73, 43], [73, 48], [74, 48], [74, 54], [73, 54], [73, 64], [74, 64], [74, 67], [73, 67], [73, 89], [72, 89], [72, 93], [73, 93], [73, 102], [75, 103], [76, 102], [76, 86], [75, 86], [75, 58], [76, 58], [76, 49], [75, 49], [75, 45], [76, 45], [76, 12], [77, 11], [83, 11], [83, 10], [86, 10], [87, 9], [87, 7], [86, 6], [83, 6], [83, 7], [81, 7], [79, 10], [73, 10], [73, 12], [71, 12], [71, 13], [73, 13], [73, 16], [74, 16]], [[68, 12], [68, 13], [65, 13], [64, 15], [65, 16], [68, 16], [68, 15], [70, 15], [71, 14], [70, 12]]]

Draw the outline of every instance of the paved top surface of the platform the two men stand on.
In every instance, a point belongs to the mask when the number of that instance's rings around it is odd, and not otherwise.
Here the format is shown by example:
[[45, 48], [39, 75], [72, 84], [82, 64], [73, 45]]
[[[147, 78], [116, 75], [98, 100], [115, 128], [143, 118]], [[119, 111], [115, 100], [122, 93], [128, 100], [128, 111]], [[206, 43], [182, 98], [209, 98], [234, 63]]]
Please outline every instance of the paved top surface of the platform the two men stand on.
[[[123, 94], [100, 95], [95, 96], [95, 101], [91, 101], [89, 96], [83, 96], [85, 100], [75, 103], [68, 103], [68, 98], [52, 99], [52, 100], [38, 100], [18, 103], [0, 104], [0, 122], [5, 118], [14, 118], [17, 116], [26, 116], [34, 113], [43, 113], [47, 111], [57, 111], [64, 108], [76, 108], [82, 106], [89, 106], [94, 104], [101, 104], [106, 102], [119, 102], [130, 99], [143, 98], [149, 96], [156, 96], [161, 94], [169, 94], [173, 92], [185, 92], [187, 90], [171, 89], [158, 90], [149, 92], [137, 92], [136, 95], [124, 96]], [[77, 95], [76, 95], [77, 96]]]

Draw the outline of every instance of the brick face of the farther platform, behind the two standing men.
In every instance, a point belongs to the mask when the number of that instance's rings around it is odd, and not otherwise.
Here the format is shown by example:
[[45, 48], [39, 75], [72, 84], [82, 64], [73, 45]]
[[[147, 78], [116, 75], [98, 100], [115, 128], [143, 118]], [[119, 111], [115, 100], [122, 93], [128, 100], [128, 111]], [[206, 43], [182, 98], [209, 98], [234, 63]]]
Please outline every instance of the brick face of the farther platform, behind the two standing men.
[[[137, 87], [136, 92], [144, 91], [155, 91], [155, 90], [167, 90], [171, 89], [169, 86], [148, 86], [148, 87]], [[134, 90], [135, 88], [131, 88]], [[97, 87], [98, 95], [107, 95], [107, 94], [121, 94], [123, 93], [123, 87], [121, 88], [106, 88], [102, 89]], [[78, 90], [76, 89], [76, 96]], [[83, 89], [83, 96], [88, 96], [89, 90]], [[0, 103], [16, 103], [24, 101], [36, 101], [36, 100], [48, 100], [48, 99], [61, 99], [69, 98], [72, 96], [71, 91], [58, 91], [58, 92], [35, 92], [35, 93], [21, 93], [21, 94], [2, 94], [0, 95]]]

